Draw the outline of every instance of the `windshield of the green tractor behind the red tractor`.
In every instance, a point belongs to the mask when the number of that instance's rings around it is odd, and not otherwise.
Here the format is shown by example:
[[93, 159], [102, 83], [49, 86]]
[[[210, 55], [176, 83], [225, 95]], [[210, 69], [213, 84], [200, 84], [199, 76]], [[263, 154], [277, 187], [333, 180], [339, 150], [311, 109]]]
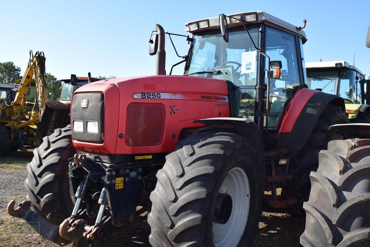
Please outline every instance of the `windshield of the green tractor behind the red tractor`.
[[338, 71], [307, 70], [308, 88], [320, 89], [327, 94], [337, 94]]

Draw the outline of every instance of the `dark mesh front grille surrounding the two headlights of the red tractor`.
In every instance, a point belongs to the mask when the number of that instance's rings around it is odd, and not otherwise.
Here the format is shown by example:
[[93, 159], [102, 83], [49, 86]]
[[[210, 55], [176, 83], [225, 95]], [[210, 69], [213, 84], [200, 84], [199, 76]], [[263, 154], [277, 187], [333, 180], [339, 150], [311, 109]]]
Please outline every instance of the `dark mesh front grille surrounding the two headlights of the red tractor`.
[[[104, 142], [104, 94], [92, 92], [74, 95], [71, 105], [71, 120], [73, 139]], [[74, 120], [82, 121], [82, 131], [74, 131]], [[87, 132], [88, 121], [98, 122], [97, 133]]]

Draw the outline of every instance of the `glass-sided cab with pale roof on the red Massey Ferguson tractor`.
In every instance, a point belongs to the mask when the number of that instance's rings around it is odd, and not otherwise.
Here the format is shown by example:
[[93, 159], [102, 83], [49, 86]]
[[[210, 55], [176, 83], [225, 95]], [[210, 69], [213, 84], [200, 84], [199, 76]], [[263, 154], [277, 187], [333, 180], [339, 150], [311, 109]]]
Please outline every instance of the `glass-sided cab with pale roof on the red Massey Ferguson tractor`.
[[[249, 118], [260, 129], [266, 127], [266, 98], [269, 95], [268, 129], [277, 131], [287, 101], [300, 87], [306, 87], [302, 64], [302, 44], [307, 40], [306, 34], [299, 27], [262, 11], [223, 18], [185, 24], [186, 31], [193, 34], [193, 42], [184, 75], [226, 80], [231, 116]], [[218, 27], [221, 21], [226, 34], [222, 34]], [[270, 62], [280, 65], [270, 71]], [[273, 75], [277, 70], [279, 75]]]

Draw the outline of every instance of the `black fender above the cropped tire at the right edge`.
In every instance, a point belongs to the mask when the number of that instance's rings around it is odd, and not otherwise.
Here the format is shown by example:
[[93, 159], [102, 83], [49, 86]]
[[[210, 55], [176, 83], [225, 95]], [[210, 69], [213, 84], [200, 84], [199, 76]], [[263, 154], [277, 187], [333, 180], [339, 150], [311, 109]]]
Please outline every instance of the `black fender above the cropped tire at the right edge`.
[[370, 124], [336, 124], [330, 126], [330, 130], [339, 129], [346, 139], [362, 138], [370, 139]]

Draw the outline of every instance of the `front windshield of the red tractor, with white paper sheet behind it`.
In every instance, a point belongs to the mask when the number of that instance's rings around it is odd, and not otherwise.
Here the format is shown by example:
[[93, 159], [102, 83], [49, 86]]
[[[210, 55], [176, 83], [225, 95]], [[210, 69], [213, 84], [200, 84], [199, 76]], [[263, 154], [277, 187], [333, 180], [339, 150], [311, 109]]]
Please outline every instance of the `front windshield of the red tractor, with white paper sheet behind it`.
[[[248, 31], [258, 44], [258, 28], [248, 27]], [[193, 38], [189, 69], [185, 74], [219, 71], [193, 76], [224, 79], [235, 85], [256, 85], [257, 51], [244, 27], [229, 29], [229, 43], [223, 40], [219, 30]]]

